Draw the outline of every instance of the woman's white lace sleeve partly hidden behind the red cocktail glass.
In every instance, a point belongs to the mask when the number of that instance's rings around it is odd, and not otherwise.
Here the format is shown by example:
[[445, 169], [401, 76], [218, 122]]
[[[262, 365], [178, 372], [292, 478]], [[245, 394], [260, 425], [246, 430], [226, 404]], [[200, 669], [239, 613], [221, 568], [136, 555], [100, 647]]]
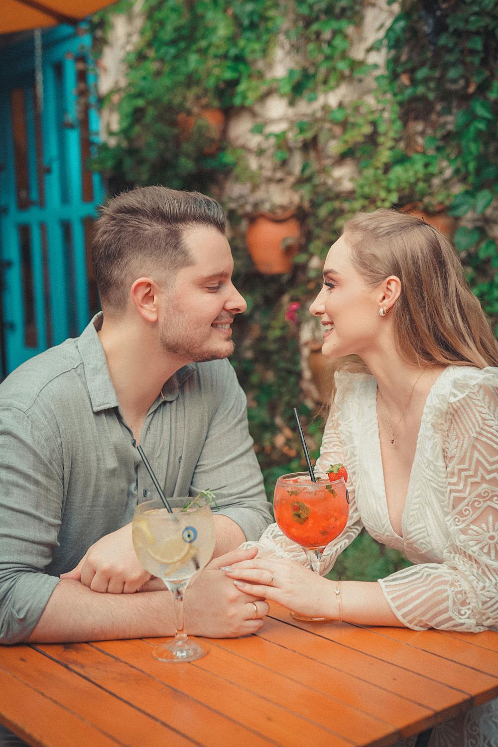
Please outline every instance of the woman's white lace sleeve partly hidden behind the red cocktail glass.
[[[315, 471], [326, 471], [326, 468], [331, 464], [337, 464], [338, 462], [346, 462], [343, 458], [343, 447], [340, 442], [340, 436], [337, 430], [337, 424], [335, 423], [333, 412], [329, 413], [326, 427], [323, 433], [322, 446], [320, 449], [320, 456], [317, 459], [315, 465]], [[347, 468], [347, 465], [346, 465]], [[330, 542], [323, 552], [322, 563], [320, 572], [326, 574], [330, 571], [334, 565], [337, 556], [355, 539], [361, 530], [361, 519], [358, 514], [358, 509], [355, 503], [355, 489], [352, 484], [351, 477], [348, 478], [348, 491], [349, 491], [349, 520], [348, 524], [344, 528], [343, 532], [337, 539]], [[308, 558], [304, 551], [296, 542], [281, 533], [276, 524], [270, 524], [264, 530], [261, 538], [258, 542], [244, 542], [240, 545], [241, 548], [258, 548], [258, 555], [276, 555], [280, 557], [287, 557], [290, 560], [299, 562], [300, 565], [308, 567]]]

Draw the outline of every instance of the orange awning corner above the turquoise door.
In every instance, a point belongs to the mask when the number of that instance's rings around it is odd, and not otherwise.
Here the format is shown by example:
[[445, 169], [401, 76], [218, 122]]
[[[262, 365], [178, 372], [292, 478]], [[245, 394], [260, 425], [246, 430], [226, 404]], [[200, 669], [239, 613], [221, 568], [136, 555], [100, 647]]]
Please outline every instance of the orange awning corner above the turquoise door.
[[0, 34], [76, 24], [116, 0], [1, 0]]

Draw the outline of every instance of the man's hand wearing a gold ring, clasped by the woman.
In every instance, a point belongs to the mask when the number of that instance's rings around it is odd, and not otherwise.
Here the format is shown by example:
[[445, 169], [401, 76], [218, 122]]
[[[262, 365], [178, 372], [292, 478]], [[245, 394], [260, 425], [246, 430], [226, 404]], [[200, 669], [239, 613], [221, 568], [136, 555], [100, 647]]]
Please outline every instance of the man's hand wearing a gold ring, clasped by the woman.
[[[211, 560], [185, 593], [187, 633], [208, 638], [249, 636], [263, 627], [268, 614], [264, 597], [241, 592], [220, 570], [242, 560], [252, 560], [258, 548], [234, 550]], [[258, 617], [255, 618], [255, 605]]]

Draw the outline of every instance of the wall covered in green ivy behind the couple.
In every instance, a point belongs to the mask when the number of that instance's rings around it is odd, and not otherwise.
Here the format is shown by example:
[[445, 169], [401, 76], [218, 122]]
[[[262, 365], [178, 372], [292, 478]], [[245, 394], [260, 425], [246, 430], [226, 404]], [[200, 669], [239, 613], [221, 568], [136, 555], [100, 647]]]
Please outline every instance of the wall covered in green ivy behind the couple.
[[[144, 0], [139, 33], [137, 4], [122, 0], [96, 25], [102, 75], [116, 13], [128, 13], [122, 25], [131, 9], [136, 35], [102, 102], [96, 167], [113, 190], [164, 184], [225, 206], [249, 307], [233, 362], [271, 494], [278, 474], [302, 468], [294, 405], [314, 456], [320, 446], [306, 307], [350, 214], [408, 206], [445, 217], [498, 329], [495, 0]], [[289, 273], [263, 275], [249, 257], [246, 228], [262, 211], [299, 220]], [[360, 543], [371, 558], [361, 577], [401, 562], [360, 538], [338, 572], [354, 573]]]

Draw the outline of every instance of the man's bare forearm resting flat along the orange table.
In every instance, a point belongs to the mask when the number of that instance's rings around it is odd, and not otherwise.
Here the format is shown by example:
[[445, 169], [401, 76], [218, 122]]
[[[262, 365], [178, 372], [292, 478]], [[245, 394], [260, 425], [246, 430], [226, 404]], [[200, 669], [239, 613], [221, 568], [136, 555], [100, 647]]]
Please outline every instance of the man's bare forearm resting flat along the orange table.
[[99, 594], [78, 581], [54, 589], [30, 643], [98, 641], [175, 633], [167, 592]]

